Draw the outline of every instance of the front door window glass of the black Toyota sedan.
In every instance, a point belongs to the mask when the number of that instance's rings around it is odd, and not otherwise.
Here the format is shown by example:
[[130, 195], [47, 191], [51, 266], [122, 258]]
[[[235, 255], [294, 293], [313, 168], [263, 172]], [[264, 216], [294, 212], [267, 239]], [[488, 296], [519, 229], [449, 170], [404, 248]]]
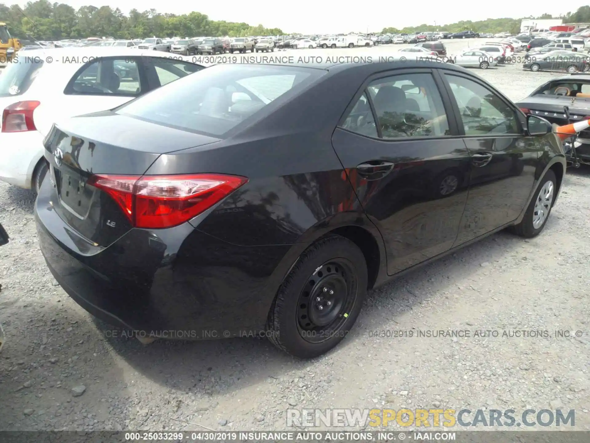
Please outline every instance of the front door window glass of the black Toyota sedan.
[[519, 134], [516, 112], [487, 87], [445, 74], [457, 100], [466, 135]]

